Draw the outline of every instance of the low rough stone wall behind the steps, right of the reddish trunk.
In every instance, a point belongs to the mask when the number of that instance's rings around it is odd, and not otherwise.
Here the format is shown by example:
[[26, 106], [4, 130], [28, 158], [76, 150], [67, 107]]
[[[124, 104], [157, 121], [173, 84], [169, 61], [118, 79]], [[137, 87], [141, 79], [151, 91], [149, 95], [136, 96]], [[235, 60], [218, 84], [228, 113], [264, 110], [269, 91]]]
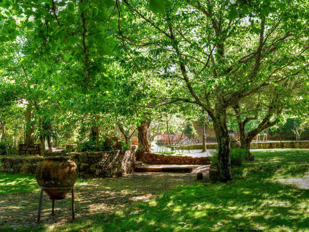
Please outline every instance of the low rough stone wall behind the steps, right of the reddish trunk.
[[147, 164], [210, 164], [208, 157], [191, 157], [181, 155], [162, 155], [146, 152], [140, 160]]

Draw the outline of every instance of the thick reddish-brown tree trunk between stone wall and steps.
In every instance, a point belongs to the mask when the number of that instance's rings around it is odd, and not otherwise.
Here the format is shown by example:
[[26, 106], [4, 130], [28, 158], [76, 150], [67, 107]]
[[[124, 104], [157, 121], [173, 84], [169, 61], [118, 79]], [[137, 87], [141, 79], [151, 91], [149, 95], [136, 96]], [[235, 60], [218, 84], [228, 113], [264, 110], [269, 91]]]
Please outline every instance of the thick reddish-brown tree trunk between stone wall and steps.
[[147, 137], [149, 126], [150, 126], [150, 120], [145, 119], [144, 121], [141, 122], [141, 125], [138, 126], [137, 128], [138, 148], [135, 151], [135, 156], [137, 160], [141, 159], [146, 152], [151, 152], [150, 144], [148, 142], [148, 137]]

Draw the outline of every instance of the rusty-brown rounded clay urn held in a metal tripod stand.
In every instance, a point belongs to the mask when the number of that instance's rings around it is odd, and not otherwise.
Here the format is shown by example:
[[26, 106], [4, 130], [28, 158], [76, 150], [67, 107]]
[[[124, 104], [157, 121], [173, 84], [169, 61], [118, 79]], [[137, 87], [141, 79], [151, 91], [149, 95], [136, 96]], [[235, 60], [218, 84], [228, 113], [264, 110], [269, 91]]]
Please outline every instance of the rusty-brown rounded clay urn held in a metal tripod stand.
[[36, 181], [40, 186], [63, 188], [43, 189], [50, 199], [65, 198], [78, 177], [77, 166], [70, 158], [70, 156], [46, 156], [36, 168]]

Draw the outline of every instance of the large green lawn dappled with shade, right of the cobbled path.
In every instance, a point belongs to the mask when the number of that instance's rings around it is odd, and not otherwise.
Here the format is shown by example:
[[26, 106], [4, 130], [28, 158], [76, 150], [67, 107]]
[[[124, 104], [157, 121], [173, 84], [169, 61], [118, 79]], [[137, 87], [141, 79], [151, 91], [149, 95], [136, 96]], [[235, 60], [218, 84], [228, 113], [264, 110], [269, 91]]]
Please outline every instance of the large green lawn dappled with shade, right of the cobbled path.
[[[309, 190], [300, 188], [296, 182], [284, 182], [306, 178], [309, 150], [252, 153], [256, 161], [234, 168], [234, 179], [225, 184], [195, 182], [180, 185], [148, 202], [133, 203], [111, 215], [89, 215], [88, 218], [61, 226], [42, 225], [17, 230], [0, 227], [0, 231], [309, 232]], [[10, 174], [7, 175], [7, 181], [12, 182], [14, 177], [10, 180]], [[0, 187], [5, 185], [0, 183]]]

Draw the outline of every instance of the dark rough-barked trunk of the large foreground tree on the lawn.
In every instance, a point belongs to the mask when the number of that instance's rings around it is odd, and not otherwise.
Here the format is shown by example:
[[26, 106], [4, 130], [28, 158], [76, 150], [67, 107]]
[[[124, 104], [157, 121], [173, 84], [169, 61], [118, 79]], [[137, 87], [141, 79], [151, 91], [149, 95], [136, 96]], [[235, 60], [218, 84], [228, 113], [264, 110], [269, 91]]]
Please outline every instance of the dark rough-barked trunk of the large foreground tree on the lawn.
[[226, 109], [216, 108], [216, 117], [213, 118], [214, 130], [218, 141], [218, 180], [227, 181], [232, 179], [230, 136], [226, 124]]

